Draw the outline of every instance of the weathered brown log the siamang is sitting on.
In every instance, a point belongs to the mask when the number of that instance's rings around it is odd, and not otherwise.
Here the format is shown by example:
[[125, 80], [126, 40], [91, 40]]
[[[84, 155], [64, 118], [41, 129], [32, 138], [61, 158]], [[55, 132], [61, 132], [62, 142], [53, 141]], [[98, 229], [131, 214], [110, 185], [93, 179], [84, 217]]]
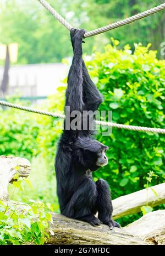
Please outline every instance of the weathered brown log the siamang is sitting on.
[[91, 224], [67, 218], [58, 213], [52, 213], [53, 224], [51, 235], [47, 244], [91, 244], [91, 245], [139, 245], [147, 244], [141, 238], [136, 237], [120, 228], [112, 231], [108, 226], [101, 224], [93, 227]]

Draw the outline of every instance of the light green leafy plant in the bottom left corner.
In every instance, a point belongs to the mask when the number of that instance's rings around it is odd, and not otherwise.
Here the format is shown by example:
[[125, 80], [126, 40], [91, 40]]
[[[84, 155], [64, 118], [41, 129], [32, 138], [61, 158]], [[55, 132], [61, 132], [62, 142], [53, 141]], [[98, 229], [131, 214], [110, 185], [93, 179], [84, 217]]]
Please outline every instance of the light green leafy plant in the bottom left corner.
[[[14, 181], [14, 187], [23, 190], [22, 181]], [[0, 245], [45, 243], [50, 237], [48, 231], [53, 233], [48, 223], [53, 223], [50, 211], [53, 211], [50, 203], [44, 205], [41, 201], [30, 200], [29, 204], [0, 201]]]

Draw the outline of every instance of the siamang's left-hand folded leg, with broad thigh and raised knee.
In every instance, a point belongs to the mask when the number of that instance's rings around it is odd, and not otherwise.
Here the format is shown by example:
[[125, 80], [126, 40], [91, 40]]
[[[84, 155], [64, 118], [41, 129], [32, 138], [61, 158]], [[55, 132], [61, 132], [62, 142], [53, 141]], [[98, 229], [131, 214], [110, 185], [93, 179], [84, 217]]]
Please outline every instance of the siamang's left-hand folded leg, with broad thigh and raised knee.
[[100, 220], [94, 216], [96, 213], [96, 184], [91, 178], [86, 178], [76, 189], [73, 196], [65, 206], [62, 214], [92, 225], [100, 225]]

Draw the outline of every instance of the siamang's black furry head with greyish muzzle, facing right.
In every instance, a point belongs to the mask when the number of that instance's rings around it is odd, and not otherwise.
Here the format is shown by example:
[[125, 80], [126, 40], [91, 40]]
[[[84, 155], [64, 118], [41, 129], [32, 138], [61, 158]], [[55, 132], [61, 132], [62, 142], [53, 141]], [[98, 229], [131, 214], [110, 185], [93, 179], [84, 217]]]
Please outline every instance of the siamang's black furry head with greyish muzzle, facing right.
[[[75, 143], [77, 149], [81, 151], [81, 163], [91, 171], [96, 171], [101, 166], [108, 163], [106, 156], [107, 146], [90, 138], [78, 138]], [[83, 160], [83, 161], [82, 161]]]

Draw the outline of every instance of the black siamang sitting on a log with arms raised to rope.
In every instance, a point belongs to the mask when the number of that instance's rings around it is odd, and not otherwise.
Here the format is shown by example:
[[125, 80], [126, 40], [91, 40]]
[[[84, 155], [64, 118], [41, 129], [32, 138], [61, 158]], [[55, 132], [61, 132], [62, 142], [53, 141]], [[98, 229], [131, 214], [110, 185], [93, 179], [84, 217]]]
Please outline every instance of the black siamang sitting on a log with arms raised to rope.
[[[91, 81], [83, 61], [84, 33], [84, 29], [72, 29], [70, 32], [74, 57], [68, 74], [65, 107], [69, 107], [70, 112], [65, 111], [66, 116], [73, 111], [79, 111], [82, 116], [84, 110], [95, 113], [102, 103], [101, 93]], [[79, 121], [83, 118], [86, 117], [81, 117]], [[89, 129], [89, 119], [85, 130], [75, 127], [66, 129], [65, 122], [55, 162], [61, 213], [93, 226], [102, 222], [110, 229], [119, 227], [112, 220], [113, 208], [107, 182], [102, 179], [96, 182], [92, 180], [92, 171], [108, 163], [108, 147], [93, 138], [94, 130]], [[96, 212], [98, 218], [95, 217]]]

